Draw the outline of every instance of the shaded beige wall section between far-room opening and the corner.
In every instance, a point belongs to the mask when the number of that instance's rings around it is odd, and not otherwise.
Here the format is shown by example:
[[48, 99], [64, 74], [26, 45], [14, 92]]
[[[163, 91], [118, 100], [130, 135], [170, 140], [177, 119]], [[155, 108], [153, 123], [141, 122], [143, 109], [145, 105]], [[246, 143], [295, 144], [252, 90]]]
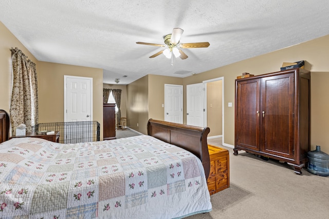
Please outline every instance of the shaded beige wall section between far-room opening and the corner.
[[[149, 75], [127, 85], [127, 126], [146, 134], [149, 120]], [[138, 125], [137, 125], [138, 124]]]

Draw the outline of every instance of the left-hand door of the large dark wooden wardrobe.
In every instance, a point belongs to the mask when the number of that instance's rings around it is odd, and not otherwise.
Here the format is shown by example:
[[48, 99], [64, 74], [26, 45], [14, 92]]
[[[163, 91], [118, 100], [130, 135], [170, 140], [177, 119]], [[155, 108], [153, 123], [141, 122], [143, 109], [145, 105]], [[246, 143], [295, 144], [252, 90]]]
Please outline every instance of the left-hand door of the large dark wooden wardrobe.
[[260, 79], [235, 85], [235, 146], [260, 150]]

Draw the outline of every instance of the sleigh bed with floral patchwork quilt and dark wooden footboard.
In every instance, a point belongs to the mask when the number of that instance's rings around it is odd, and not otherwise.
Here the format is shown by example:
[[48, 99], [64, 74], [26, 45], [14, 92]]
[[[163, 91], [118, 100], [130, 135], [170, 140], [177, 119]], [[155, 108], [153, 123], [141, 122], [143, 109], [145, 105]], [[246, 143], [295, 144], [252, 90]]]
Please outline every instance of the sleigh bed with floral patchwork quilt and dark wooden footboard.
[[181, 218], [211, 211], [207, 135], [149, 120], [148, 135], [0, 144], [0, 218]]

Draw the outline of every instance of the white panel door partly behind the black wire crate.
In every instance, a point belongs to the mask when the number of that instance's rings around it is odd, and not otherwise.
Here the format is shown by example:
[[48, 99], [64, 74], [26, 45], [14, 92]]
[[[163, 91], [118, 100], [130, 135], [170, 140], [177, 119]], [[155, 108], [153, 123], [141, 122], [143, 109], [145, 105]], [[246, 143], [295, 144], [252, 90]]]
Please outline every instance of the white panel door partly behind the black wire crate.
[[64, 75], [65, 144], [93, 141], [92, 104], [93, 78]]

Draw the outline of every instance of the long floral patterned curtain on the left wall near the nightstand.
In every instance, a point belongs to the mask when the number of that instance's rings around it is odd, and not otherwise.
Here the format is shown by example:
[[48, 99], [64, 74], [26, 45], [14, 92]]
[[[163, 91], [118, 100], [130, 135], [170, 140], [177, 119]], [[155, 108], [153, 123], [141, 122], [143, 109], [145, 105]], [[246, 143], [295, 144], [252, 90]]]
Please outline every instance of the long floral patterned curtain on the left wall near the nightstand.
[[38, 81], [35, 64], [27, 60], [20, 49], [11, 49], [13, 87], [10, 104], [12, 131], [20, 124], [26, 125], [26, 132], [38, 124]]

